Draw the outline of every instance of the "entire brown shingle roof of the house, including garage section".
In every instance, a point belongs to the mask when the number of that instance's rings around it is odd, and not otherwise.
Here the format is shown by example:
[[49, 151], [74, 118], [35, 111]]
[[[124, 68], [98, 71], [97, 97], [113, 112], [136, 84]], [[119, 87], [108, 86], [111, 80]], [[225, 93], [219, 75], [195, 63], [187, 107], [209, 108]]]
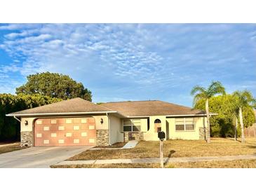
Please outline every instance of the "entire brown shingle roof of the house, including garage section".
[[121, 116], [179, 116], [202, 115], [200, 110], [193, 110], [177, 104], [161, 101], [137, 101], [137, 102], [107, 102], [94, 104], [81, 98], [65, 100], [41, 107], [17, 111], [7, 116], [37, 116], [51, 114], [86, 114], [86, 113], [112, 112]]

